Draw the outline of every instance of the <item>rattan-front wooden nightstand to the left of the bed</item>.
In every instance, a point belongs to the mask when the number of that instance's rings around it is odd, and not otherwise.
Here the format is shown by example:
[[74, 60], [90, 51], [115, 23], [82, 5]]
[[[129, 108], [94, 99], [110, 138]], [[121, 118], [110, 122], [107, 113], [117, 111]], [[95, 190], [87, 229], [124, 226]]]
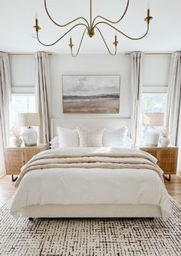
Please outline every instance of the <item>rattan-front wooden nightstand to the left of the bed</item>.
[[39, 144], [34, 147], [5, 147], [6, 174], [12, 175], [12, 181], [15, 181], [16, 178], [14, 178], [13, 175], [18, 175], [21, 171], [21, 167], [34, 155], [48, 148], [48, 144]]

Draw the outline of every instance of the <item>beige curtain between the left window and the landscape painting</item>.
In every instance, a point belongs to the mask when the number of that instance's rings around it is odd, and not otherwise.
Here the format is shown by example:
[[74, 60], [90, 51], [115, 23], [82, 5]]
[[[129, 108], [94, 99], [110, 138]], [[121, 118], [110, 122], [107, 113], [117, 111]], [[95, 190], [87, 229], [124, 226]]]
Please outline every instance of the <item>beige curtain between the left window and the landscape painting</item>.
[[50, 125], [50, 72], [48, 53], [37, 52], [36, 88], [38, 97], [38, 113], [40, 116], [39, 142], [48, 143], [51, 135]]

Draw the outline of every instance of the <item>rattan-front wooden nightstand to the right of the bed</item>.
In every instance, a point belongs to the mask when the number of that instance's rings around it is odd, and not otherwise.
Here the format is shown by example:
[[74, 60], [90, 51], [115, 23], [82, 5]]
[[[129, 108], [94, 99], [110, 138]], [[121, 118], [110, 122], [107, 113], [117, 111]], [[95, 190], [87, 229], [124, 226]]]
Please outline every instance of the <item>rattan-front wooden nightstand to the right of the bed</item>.
[[166, 178], [170, 181], [171, 175], [176, 175], [177, 167], [177, 156], [178, 148], [169, 146], [169, 147], [146, 147], [140, 146], [140, 150], [146, 151], [158, 159], [158, 165], [163, 169], [164, 175], [169, 175], [169, 178]]

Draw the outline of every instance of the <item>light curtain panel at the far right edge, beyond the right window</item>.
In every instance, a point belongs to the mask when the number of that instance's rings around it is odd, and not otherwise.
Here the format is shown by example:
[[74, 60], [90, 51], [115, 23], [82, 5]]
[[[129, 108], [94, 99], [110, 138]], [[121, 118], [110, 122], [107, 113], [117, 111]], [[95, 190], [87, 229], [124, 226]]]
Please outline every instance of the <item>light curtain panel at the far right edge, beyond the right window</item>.
[[166, 126], [172, 145], [178, 144], [179, 115], [181, 111], [181, 52], [173, 52], [169, 70]]

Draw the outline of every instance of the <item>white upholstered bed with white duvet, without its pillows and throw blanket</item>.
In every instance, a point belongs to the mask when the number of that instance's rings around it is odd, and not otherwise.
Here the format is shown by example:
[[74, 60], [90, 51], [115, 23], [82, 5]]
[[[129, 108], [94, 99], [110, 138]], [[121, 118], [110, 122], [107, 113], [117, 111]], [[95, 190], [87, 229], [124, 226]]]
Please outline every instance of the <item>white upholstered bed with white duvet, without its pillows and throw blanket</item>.
[[[115, 129], [129, 127], [129, 123], [127, 118], [54, 119], [52, 137], [55, 127], [60, 125]], [[50, 151], [67, 153], [77, 150], [117, 151], [115, 148], [54, 148]], [[22, 178], [12, 201], [11, 214], [16, 218], [168, 218], [171, 204], [156, 171], [49, 168], [30, 171]]]

